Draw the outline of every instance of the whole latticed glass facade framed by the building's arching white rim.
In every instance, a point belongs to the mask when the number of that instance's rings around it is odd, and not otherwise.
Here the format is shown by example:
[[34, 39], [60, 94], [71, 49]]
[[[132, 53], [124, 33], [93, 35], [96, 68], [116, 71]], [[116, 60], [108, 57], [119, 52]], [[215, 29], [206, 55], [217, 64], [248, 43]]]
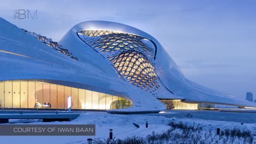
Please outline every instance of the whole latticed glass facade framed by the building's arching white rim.
[[149, 39], [110, 30], [81, 30], [78, 36], [108, 59], [125, 81], [157, 94], [155, 46]]

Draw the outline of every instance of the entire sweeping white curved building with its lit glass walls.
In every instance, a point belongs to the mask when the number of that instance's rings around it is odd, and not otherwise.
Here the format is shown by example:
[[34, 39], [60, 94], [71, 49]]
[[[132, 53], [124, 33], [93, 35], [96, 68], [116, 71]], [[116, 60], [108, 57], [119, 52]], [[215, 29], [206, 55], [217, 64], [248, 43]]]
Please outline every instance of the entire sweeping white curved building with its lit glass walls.
[[119, 113], [256, 107], [189, 81], [154, 37], [121, 23], [82, 22], [58, 43], [0, 23], [2, 108], [65, 109], [69, 96], [72, 109]]

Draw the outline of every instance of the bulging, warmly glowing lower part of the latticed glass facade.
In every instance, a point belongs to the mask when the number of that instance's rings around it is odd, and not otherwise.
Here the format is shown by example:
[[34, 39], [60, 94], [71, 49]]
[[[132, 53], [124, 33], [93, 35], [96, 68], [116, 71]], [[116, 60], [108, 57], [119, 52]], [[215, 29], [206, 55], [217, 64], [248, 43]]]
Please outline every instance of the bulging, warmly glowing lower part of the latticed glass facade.
[[121, 52], [111, 61], [126, 81], [141, 87], [141, 89], [151, 90], [155, 86], [152, 92], [158, 89], [155, 70], [142, 53], [137, 51]]

